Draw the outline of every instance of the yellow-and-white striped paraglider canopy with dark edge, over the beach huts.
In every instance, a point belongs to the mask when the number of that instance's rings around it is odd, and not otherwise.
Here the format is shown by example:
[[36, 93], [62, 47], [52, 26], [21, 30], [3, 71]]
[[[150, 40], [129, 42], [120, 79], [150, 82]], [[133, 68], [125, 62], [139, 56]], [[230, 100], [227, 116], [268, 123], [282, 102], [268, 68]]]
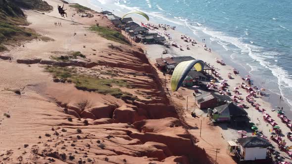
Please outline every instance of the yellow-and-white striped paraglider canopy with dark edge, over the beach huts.
[[202, 71], [204, 68], [204, 62], [201, 60], [189, 60], [181, 62], [175, 67], [171, 78], [172, 91], [177, 91], [179, 89], [192, 68], [195, 68], [197, 72]]

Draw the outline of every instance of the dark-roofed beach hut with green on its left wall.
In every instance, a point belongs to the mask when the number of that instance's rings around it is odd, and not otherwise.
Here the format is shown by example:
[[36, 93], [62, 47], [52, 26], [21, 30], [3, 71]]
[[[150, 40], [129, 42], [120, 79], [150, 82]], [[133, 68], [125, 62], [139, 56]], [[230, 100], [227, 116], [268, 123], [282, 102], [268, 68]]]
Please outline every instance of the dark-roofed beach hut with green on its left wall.
[[234, 103], [215, 107], [210, 112], [210, 116], [216, 122], [231, 122], [236, 125], [237, 123], [248, 123], [249, 121], [247, 112]]

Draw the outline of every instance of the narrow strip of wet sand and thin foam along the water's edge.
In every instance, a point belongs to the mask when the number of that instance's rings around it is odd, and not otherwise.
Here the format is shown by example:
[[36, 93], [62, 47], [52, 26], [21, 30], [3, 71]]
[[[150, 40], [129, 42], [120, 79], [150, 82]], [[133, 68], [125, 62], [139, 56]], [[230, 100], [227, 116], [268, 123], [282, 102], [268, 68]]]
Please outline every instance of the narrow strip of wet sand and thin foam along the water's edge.
[[[96, 3], [99, 3], [100, 6], [97, 6], [97, 4], [93, 4], [91, 2], [91, 0], [83, 0], [83, 1], [68, 0], [68, 1], [69, 2], [78, 2], [78, 3], [82, 4], [82, 5], [90, 6], [90, 7], [94, 8], [97, 11], [107, 10], [108, 9], [110, 11], [113, 11], [113, 13], [115, 15], [118, 15], [118, 16], [122, 16], [122, 14], [125, 13], [125, 12], [122, 12], [122, 10], [129, 11], [131, 9], [135, 9], [135, 7], [134, 8], [133, 7], [127, 7], [125, 5], [120, 5], [120, 6], [124, 7], [124, 8], [122, 8], [122, 9], [120, 8], [119, 9], [116, 4], [104, 5], [100, 1], [96, 2]], [[115, 7], [115, 8], [112, 8], [112, 7]], [[151, 17], [152, 14], [150, 14], [149, 16]], [[140, 24], [140, 22], [144, 21], [144, 19], [142, 17], [140, 17], [140, 16], [131, 15], [131, 17], [134, 19], [135, 22], [138, 22], [139, 24]], [[176, 31], [179, 31], [182, 35], [190, 36], [191, 38], [193, 38], [193, 39], [195, 39], [196, 41], [199, 41], [199, 42], [201, 42], [202, 38], [210, 37], [210, 36], [208, 36], [206, 34], [203, 34], [202, 32], [199, 32], [199, 31], [197, 31], [196, 34], [195, 34], [195, 32], [189, 28], [190, 27], [189, 25], [186, 26], [186, 25], [181, 24], [179, 22], [172, 21], [170, 19], [166, 19], [164, 17], [160, 18], [158, 15], [156, 15], [156, 17], [159, 18], [159, 19], [156, 19], [156, 18], [151, 19], [148, 23], [156, 24], [156, 25], [157, 24], [169, 24], [171, 26], [177, 26]], [[144, 21], [144, 23], [145, 23], [145, 21]], [[251, 78], [254, 81], [254, 85], [255, 86], [259, 86], [259, 87], [263, 87], [263, 88], [267, 89], [266, 93], [269, 94], [270, 96], [264, 98], [264, 100], [266, 102], [271, 103], [272, 108], [276, 109], [277, 107], [280, 107], [280, 108], [283, 107], [284, 111], [287, 112], [286, 115], [288, 115], [290, 118], [292, 117], [292, 106], [289, 104], [288, 99], [286, 99], [285, 96], [282, 95], [282, 97], [284, 97], [285, 101], [281, 101], [281, 104], [280, 104], [277, 101], [278, 98], [280, 97], [280, 94], [276, 93], [275, 91], [273, 91], [271, 89], [269, 89], [269, 87], [266, 86], [266, 83], [265, 83], [266, 79], [263, 79], [262, 76], [254, 76], [253, 74], [250, 74], [250, 72], [252, 70], [251, 70], [251, 67], [249, 68], [249, 66], [248, 66], [249, 63], [241, 64], [240, 62], [239, 63], [234, 62], [233, 61], [234, 59], [232, 58], [233, 54], [231, 52], [224, 51], [225, 49], [223, 48], [222, 45], [214, 44], [213, 41], [209, 40], [209, 38], [206, 38], [206, 44], [213, 51], [217, 52], [219, 54], [219, 56], [225, 61], [225, 63], [227, 65], [230, 65], [233, 68], [236, 68], [237, 70], [239, 70], [241, 76], [244, 77], [246, 75], [251, 75]]]

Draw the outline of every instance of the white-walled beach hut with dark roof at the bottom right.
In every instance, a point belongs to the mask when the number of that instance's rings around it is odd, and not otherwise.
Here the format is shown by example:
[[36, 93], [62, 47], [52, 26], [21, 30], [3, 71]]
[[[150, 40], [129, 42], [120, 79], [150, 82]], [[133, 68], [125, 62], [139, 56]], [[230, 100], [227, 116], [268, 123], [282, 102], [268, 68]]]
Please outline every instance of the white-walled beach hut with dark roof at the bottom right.
[[272, 146], [262, 137], [239, 138], [240, 149], [236, 152], [240, 161], [256, 161], [267, 159], [267, 147]]

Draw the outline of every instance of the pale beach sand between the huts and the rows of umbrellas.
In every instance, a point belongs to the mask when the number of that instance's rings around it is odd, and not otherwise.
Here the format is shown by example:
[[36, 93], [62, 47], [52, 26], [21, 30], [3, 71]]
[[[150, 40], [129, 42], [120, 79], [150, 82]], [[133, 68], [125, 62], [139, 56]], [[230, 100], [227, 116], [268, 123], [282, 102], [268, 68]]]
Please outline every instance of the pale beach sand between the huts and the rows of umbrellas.
[[[159, 29], [157, 30], [157, 32], [163, 34], [164, 30], [163, 29]], [[246, 78], [246, 77], [242, 77], [241, 75], [234, 75], [233, 74], [233, 67], [231, 66], [222, 66], [219, 63], [216, 63], [217, 60], [222, 60], [222, 57], [217, 54], [216, 52], [209, 52], [204, 50], [204, 45], [205, 43], [202, 43], [201, 41], [197, 41], [198, 44], [195, 44], [195, 46], [192, 46], [192, 43], [187, 43], [184, 40], [181, 40], [181, 36], [184, 36], [184, 34], [175, 31], [175, 30], [167, 30], [167, 33], [170, 34], [172, 41], [168, 41], [168, 42], [176, 42], [178, 45], [181, 45], [184, 49], [184, 51], [181, 51], [180, 48], [176, 48], [174, 46], [171, 46], [171, 48], [166, 48], [164, 46], [161, 45], [146, 45], [146, 50], [147, 50], [147, 56], [150, 58], [150, 60], [152, 61], [152, 63], [155, 63], [155, 59], [156, 58], [161, 58], [162, 55], [162, 51], [167, 49], [168, 50], [168, 54], [163, 54], [162, 57], [173, 57], [173, 56], [192, 56], [195, 59], [200, 59], [203, 60], [206, 63], [210, 63], [212, 66], [214, 66], [216, 68], [216, 71], [220, 74], [220, 76], [222, 77], [222, 79], [224, 80], [228, 80], [227, 83], [230, 85], [228, 88], [229, 90], [233, 91], [234, 87], [239, 87], [239, 85], [244, 82], [247, 83], [246, 81], [243, 81], [242, 78]], [[165, 36], [166, 37], [166, 36]], [[187, 47], [190, 47], [190, 50], [187, 50]], [[229, 79], [228, 78], [228, 73], [232, 73], [232, 78], [234, 79]], [[168, 75], [169, 76], [169, 75]], [[168, 88], [170, 88], [170, 77], [167, 78], [168, 79], [168, 83], [167, 86]], [[251, 77], [252, 79], [252, 77]], [[221, 80], [220, 82], [222, 82], [223, 80]], [[220, 82], [218, 82], [217, 84], [220, 85]], [[187, 99], [187, 96], [189, 96], [189, 103], [188, 106], [193, 106], [192, 109], [188, 109], [189, 111], [193, 111], [195, 110], [198, 113], [202, 113], [204, 117], [206, 117], [206, 115], [204, 114], [206, 111], [201, 111], [199, 110], [197, 107], [195, 107], [195, 98], [192, 95], [192, 91], [188, 91], [187, 88], [180, 88], [178, 90], [178, 93], [182, 96], [184, 96], [184, 99]], [[241, 93], [240, 96], [245, 97], [247, 96], [248, 93], [246, 93], [246, 91], [242, 88], [239, 89], [239, 92]], [[174, 96], [176, 94], [176, 92], [172, 92], [171, 93], [172, 96]], [[235, 95], [232, 92], [232, 95]], [[276, 111], [272, 112], [272, 109], [276, 109], [279, 110], [277, 108], [272, 107], [272, 105], [266, 101], [264, 101], [262, 99], [261, 96], [259, 96], [258, 98], [255, 99], [256, 103], [259, 103], [261, 106], [261, 109], [266, 109], [266, 111], [264, 111], [264, 113], [269, 114], [276, 123], [278, 123], [278, 125], [281, 127], [281, 129], [283, 130], [283, 134], [286, 134], [287, 132], [290, 132], [290, 128], [285, 124], [281, 122], [281, 119], [279, 117], [277, 117], [277, 113]], [[280, 101], [280, 100], [279, 100]], [[272, 126], [269, 123], [266, 123], [263, 120], [263, 113], [255, 110], [254, 107], [252, 107], [250, 105], [250, 103], [247, 103], [245, 100], [243, 102], [238, 103], [238, 105], [241, 104], [245, 104], [247, 105], [249, 108], [245, 109], [246, 112], [248, 113], [248, 116], [250, 117], [250, 122], [252, 123], [256, 123], [257, 127], [259, 128], [260, 131], [263, 132], [264, 135], [266, 136], [270, 136], [270, 132], [269, 129], [272, 129]], [[186, 102], [181, 103], [181, 105], [186, 108]], [[220, 125], [221, 126], [221, 125]], [[234, 138], [238, 138], [239, 135], [237, 133], [238, 130], [246, 130], [246, 131], [250, 131], [250, 129], [233, 129], [233, 128], [228, 128], [226, 126], [226, 124], [222, 125], [221, 128], [221, 132], [222, 135], [224, 137], [224, 141], [227, 142], [229, 140], [232, 140]], [[252, 133], [249, 132], [249, 135], [252, 136]], [[283, 137], [285, 138], [287, 145], [291, 145], [292, 142], [285, 136]], [[278, 145], [274, 142], [271, 141], [271, 143], [276, 147], [276, 149], [278, 149]], [[279, 151], [279, 150], [278, 150]], [[289, 159], [289, 156], [282, 152], [281, 153], [286, 159]]]

